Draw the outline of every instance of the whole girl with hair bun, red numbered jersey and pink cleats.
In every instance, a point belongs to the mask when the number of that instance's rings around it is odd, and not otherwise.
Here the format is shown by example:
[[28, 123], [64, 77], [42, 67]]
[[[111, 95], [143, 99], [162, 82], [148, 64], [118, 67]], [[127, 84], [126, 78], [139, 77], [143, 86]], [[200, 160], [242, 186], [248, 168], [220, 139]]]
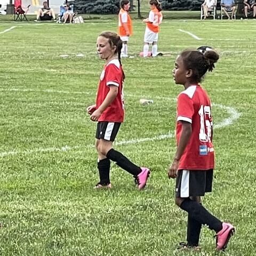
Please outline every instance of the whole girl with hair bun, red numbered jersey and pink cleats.
[[175, 61], [175, 84], [182, 84], [185, 90], [178, 96], [177, 151], [168, 176], [177, 178], [175, 203], [188, 212], [187, 243], [180, 243], [180, 248], [197, 249], [201, 227], [207, 225], [216, 232], [216, 249], [224, 250], [235, 229], [201, 204], [201, 196], [212, 190], [214, 149], [211, 101], [199, 83], [219, 59], [217, 52], [207, 49], [204, 53], [183, 51]]

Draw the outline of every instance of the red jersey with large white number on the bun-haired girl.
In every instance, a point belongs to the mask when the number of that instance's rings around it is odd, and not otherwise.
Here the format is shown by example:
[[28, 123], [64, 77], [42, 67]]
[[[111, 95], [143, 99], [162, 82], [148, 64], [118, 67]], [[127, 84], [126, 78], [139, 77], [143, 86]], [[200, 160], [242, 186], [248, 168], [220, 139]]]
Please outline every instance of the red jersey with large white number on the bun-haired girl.
[[209, 170], [214, 168], [211, 141], [211, 101], [199, 85], [191, 85], [178, 96], [176, 139], [179, 144], [182, 124], [192, 125], [192, 134], [179, 163], [179, 170]]

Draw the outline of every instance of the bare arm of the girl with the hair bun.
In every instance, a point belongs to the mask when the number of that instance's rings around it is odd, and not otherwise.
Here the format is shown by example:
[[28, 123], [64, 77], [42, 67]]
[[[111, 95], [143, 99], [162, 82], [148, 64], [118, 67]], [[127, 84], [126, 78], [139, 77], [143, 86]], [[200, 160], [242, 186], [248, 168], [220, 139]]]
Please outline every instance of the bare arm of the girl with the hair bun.
[[177, 171], [179, 167], [179, 161], [180, 158], [187, 147], [188, 141], [190, 139], [191, 133], [192, 133], [192, 125], [185, 121], [179, 121], [182, 123], [182, 132], [180, 135], [180, 140], [178, 143], [178, 147], [176, 150], [176, 154], [174, 156], [172, 165], [169, 167], [168, 170], [168, 177], [169, 178], [176, 178], [177, 177]]

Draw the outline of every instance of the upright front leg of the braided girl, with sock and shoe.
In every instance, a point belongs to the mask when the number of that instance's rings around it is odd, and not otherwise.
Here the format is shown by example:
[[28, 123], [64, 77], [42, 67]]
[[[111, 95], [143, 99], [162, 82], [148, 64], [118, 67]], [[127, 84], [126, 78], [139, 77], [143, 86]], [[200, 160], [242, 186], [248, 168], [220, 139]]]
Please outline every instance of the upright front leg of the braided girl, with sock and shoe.
[[95, 188], [100, 188], [100, 187], [111, 187], [110, 185], [110, 161], [109, 159], [102, 155], [100, 153], [100, 140], [96, 139], [95, 142], [96, 149], [98, 151], [98, 170], [99, 170], [99, 176], [100, 176], [100, 181], [96, 185]]

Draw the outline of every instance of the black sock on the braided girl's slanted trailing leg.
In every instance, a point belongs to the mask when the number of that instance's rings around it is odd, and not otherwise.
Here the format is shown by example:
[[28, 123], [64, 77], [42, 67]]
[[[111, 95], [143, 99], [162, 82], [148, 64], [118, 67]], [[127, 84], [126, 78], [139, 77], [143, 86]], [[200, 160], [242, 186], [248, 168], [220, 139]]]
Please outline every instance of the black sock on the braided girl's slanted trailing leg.
[[115, 149], [111, 148], [107, 153], [107, 158], [111, 161], [116, 162], [118, 166], [120, 166], [125, 171], [131, 173], [132, 175], [136, 176], [141, 172], [139, 166], [133, 164], [127, 157], [125, 157], [120, 152], [116, 151]]

